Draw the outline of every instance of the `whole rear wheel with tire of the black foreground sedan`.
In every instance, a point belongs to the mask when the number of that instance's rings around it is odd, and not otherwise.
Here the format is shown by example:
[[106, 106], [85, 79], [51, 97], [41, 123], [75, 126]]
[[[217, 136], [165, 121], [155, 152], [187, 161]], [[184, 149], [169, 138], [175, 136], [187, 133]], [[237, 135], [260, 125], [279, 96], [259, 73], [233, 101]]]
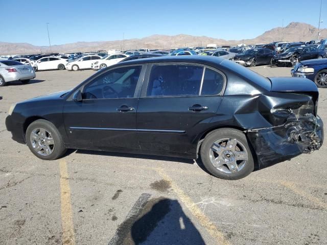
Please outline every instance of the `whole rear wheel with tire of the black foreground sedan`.
[[[235, 146], [230, 148], [230, 145]], [[208, 133], [201, 144], [200, 156], [209, 173], [220, 179], [242, 179], [254, 169], [252, 151], [246, 136], [237, 129], [222, 128]], [[237, 160], [238, 158], [243, 160]]]

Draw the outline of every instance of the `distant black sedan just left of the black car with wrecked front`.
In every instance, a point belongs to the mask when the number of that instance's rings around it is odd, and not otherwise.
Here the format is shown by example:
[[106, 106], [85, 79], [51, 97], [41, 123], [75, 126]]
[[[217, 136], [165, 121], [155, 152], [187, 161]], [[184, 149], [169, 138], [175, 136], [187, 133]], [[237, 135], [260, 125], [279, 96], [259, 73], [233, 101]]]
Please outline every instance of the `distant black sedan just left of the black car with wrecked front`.
[[269, 48], [251, 48], [234, 57], [233, 61], [244, 66], [267, 65], [272, 63], [275, 51]]

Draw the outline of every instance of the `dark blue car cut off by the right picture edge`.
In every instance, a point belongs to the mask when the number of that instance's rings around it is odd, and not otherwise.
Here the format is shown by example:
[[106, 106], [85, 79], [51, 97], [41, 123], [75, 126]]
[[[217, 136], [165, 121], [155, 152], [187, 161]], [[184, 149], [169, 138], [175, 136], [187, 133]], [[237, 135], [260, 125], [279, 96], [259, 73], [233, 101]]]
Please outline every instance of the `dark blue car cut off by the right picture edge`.
[[327, 88], [327, 59], [305, 60], [296, 63], [292, 77], [308, 78], [318, 87]]

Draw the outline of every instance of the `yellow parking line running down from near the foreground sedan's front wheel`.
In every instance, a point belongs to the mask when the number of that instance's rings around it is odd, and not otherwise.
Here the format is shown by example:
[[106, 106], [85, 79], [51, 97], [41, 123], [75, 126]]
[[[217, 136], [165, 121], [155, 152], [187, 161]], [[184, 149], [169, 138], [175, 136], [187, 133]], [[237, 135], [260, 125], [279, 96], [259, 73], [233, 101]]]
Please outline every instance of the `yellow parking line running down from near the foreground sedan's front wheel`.
[[71, 189], [69, 188], [66, 161], [61, 160], [59, 165], [60, 165], [62, 243], [75, 245], [75, 234], [74, 234], [72, 203], [71, 203]]

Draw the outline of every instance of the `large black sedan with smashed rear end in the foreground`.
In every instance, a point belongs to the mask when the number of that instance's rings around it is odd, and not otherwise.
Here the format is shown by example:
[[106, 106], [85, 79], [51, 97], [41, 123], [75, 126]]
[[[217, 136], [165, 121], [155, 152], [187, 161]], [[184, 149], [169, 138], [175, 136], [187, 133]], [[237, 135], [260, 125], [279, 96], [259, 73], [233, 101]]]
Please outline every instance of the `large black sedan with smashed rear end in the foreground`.
[[223, 179], [318, 150], [317, 86], [265, 78], [218, 57], [115, 64], [72, 90], [13, 105], [12, 138], [44, 160], [66, 149], [196, 159]]

